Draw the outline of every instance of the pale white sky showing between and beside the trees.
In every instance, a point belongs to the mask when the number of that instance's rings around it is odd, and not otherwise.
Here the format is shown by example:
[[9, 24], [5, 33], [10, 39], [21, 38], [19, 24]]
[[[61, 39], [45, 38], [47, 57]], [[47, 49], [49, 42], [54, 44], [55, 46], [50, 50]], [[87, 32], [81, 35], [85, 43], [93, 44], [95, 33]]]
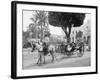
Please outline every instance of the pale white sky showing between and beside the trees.
[[[30, 23], [32, 23], [32, 20], [30, 18], [33, 17], [34, 12], [33, 11], [23, 11], [23, 31], [26, 31], [28, 29], [28, 26]], [[84, 23], [82, 26], [77, 27], [77, 28], [72, 28], [73, 29], [79, 29], [82, 30], [83, 32], [86, 31], [86, 27], [83, 27], [87, 24], [87, 21], [91, 20], [91, 15], [90, 14], [86, 14]], [[49, 29], [50, 29], [50, 33], [51, 34], [55, 34], [55, 35], [63, 35], [65, 36], [64, 31], [62, 30], [61, 27], [55, 27], [49, 24]]]

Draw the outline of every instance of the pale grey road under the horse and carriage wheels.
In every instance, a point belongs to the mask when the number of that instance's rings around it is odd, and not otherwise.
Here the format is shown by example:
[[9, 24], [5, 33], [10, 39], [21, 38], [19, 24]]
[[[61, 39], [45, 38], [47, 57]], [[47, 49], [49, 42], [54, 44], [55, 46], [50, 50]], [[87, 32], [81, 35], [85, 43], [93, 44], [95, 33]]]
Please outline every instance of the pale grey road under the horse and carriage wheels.
[[46, 58], [46, 64], [36, 64], [38, 55], [36, 52], [33, 52], [32, 54], [26, 52], [23, 52], [23, 69], [39, 69], [39, 68], [58, 68], [58, 67], [84, 67], [84, 66], [90, 66], [91, 60], [90, 52], [85, 52], [82, 57], [77, 57], [76, 55], [73, 55], [71, 57], [64, 56], [61, 54], [56, 53], [57, 60], [55, 60], [54, 63], [51, 63], [51, 56], [47, 55]]

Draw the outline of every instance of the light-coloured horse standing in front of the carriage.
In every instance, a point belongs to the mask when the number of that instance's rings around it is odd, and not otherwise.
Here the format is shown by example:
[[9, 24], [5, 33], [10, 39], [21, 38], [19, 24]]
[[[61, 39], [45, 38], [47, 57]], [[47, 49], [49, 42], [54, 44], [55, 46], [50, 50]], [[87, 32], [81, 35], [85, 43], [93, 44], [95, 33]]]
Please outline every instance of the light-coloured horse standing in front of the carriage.
[[[52, 60], [51, 60], [52, 63], [54, 62], [54, 59], [56, 58], [55, 55], [54, 55], [54, 53], [55, 53], [55, 46], [54, 45], [48, 45], [47, 46], [47, 45], [44, 45], [43, 43], [38, 43], [36, 45], [36, 47], [37, 47], [38, 56], [39, 56], [37, 64], [39, 64], [39, 63], [45, 64], [45, 56], [49, 53], [52, 57]], [[43, 61], [43, 59], [44, 59], [44, 61]]]

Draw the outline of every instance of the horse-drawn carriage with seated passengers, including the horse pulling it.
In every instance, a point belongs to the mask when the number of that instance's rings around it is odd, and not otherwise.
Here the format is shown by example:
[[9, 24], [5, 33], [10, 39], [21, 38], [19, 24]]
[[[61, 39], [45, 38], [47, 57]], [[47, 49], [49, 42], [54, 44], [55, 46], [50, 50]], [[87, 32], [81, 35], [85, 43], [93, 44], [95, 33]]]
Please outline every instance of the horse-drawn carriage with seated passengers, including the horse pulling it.
[[[33, 44], [32, 44], [33, 45]], [[45, 63], [45, 56], [50, 53], [51, 57], [52, 57], [52, 62], [54, 62], [54, 59], [56, 59], [55, 57], [55, 53], [57, 53], [56, 51], [59, 49], [60, 54], [65, 54], [67, 56], [71, 56], [71, 55], [75, 55], [77, 54], [78, 57], [83, 56], [84, 54], [84, 42], [82, 41], [77, 41], [76, 43], [72, 42], [72, 43], [63, 43], [59, 46], [56, 45], [52, 45], [52, 44], [45, 44], [44, 42], [38, 41], [35, 42], [35, 48], [38, 50], [38, 61], [37, 63]], [[58, 48], [58, 49], [57, 49]], [[33, 47], [32, 47], [32, 51]]]

